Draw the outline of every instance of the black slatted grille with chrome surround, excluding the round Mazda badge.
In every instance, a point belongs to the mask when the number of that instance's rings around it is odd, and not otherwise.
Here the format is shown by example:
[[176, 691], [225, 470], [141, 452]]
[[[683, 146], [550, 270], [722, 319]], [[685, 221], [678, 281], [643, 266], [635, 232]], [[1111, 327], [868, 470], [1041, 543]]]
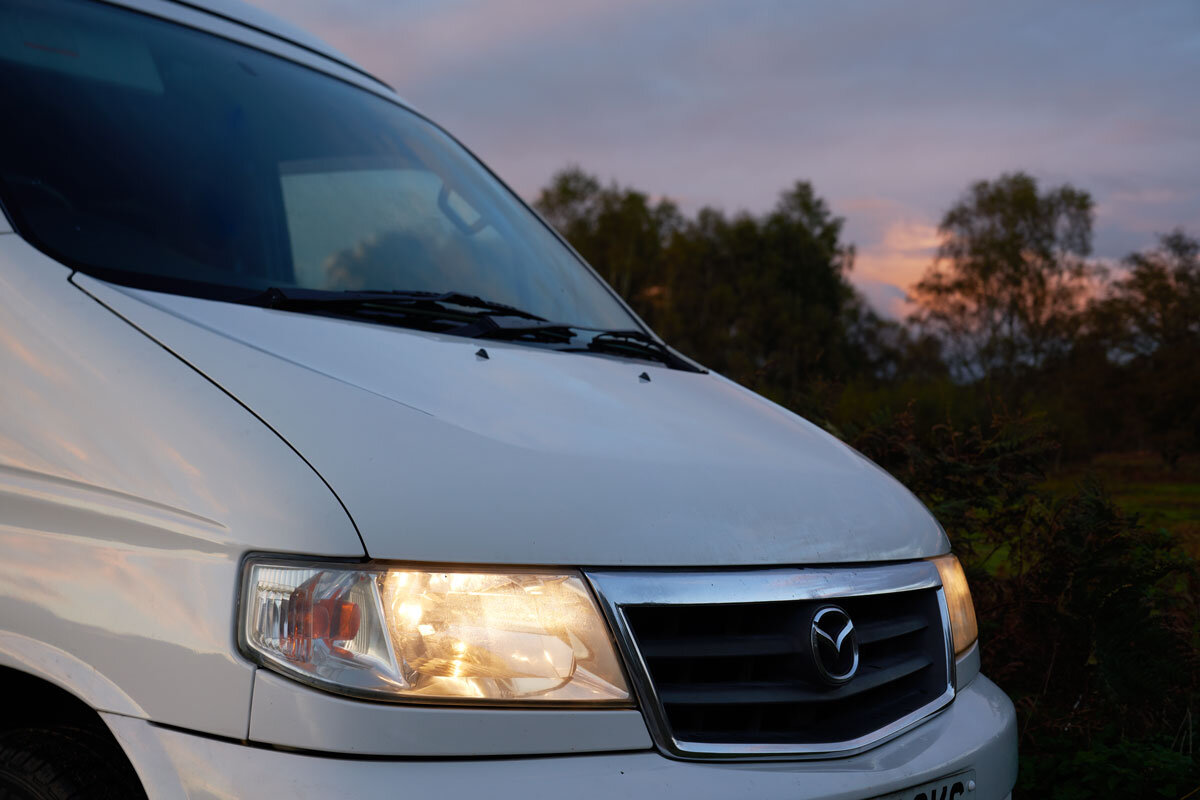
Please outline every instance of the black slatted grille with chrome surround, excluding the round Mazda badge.
[[[857, 752], [953, 697], [937, 571], [865, 569], [594, 572], [659, 746], [677, 757]], [[860, 663], [817, 680], [805, 646], [814, 612], [854, 621]]]

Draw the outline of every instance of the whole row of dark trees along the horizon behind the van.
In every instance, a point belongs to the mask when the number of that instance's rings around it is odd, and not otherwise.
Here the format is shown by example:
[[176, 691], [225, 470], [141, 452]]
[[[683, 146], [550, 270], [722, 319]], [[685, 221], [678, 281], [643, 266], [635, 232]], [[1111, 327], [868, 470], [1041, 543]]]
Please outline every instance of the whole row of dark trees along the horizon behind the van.
[[1178, 229], [1104, 265], [1074, 186], [972, 185], [899, 321], [854, 290], [845, 221], [805, 181], [763, 215], [688, 216], [569, 168], [536, 206], [667, 342], [808, 416], [912, 403], [928, 428], [1004, 405], [1068, 458], [1200, 450], [1200, 243]]

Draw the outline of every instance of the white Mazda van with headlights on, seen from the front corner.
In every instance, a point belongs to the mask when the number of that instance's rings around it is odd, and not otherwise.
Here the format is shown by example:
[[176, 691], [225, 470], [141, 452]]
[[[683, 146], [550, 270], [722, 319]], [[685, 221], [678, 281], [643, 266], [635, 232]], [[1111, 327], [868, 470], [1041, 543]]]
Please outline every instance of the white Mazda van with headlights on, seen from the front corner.
[[248, 8], [0, 0], [0, 799], [998, 800], [944, 533]]

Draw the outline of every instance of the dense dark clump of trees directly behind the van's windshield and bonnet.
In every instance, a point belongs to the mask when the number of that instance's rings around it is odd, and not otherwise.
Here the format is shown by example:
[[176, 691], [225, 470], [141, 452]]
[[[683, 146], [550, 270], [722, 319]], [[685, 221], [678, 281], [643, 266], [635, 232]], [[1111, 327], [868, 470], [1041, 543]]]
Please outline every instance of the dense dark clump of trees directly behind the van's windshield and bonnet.
[[761, 217], [688, 218], [572, 167], [536, 205], [664, 338], [775, 399], [802, 405], [812, 380], [882, 357], [886, 323], [847, 279], [854, 248], [842, 219], [805, 181]]

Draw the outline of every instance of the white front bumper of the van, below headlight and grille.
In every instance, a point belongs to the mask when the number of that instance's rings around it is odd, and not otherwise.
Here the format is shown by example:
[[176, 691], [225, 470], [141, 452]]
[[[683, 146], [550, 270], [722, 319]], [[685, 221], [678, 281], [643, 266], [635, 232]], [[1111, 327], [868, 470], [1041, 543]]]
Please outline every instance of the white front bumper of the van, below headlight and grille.
[[1016, 780], [1013, 704], [979, 675], [932, 720], [865, 753], [811, 762], [695, 763], [652, 751], [480, 759], [343, 758], [248, 746], [104, 715], [152, 800], [276, 798], [756, 798], [864, 800], [973, 769], [966, 800]]

